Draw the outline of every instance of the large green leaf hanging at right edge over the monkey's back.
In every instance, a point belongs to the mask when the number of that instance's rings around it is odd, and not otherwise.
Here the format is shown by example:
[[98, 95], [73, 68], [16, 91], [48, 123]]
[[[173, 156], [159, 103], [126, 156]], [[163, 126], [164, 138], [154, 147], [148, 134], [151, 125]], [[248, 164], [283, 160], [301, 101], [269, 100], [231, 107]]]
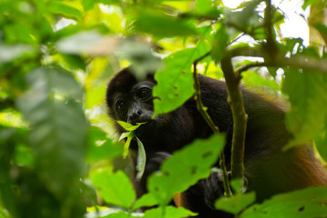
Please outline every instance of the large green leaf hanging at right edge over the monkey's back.
[[282, 92], [289, 95], [291, 111], [286, 124], [294, 135], [288, 147], [305, 144], [320, 131], [327, 117], [327, 76], [323, 74], [285, 70]]

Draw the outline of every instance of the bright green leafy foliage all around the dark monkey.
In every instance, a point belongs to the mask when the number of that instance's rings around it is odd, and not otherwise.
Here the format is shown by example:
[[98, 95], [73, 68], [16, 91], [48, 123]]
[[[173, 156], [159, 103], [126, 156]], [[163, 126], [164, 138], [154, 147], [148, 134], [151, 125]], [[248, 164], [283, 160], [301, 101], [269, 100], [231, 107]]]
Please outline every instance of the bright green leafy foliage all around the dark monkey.
[[[304, 2], [303, 8], [317, 0]], [[173, 154], [162, 173], [150, 177], [150, 192], [135, 201], [123, 145], [106, 115], [105, 87], [129, 64], [140, 78], [159, 69], [154, 113], [168, 113], [193, 95], [195, 59], [211, 54], [198, 63], [198, 72], [223, 79], [219, 62], [228, 51], [262, 47], [263, 8], [260, 0], [236, 10], [219, 0], [0, 1], [0, 218], [195, 215], [166, 204], [210, 173], [223, 136]], [[278, 5], [272, 17], [280, 30], [284, 14]], [[319, 21], [312, 28], [327, 29]], [[317, 45], [274, 37], [287, 56], [326, 59]], [[233, 65], [256, 62], [235, 58]], [[327, 160], [326, 72], [252, 68], [243, 72], [243, 84], [288, 98], [287, 125], [295, 136], [289, 145], [314, 139]], [[203, 158], [207, 152], [212, 155]], [[193, 163], [198, 173], [190, 173]], [[216, 206], [249, 218], [322, 217], [325, 196], [325, 188], [312, 188], [244, 210], [253, 193], [237, 193]]]

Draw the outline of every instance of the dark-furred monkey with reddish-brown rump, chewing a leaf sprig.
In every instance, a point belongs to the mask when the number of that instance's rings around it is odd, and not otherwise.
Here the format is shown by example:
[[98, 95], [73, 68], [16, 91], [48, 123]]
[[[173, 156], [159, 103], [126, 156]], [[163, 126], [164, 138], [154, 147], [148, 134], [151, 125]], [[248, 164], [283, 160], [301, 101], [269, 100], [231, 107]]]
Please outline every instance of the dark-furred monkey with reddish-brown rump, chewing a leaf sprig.
[[[226, 133], [224, 153], [226, 166], [230, 169], [233, 116], [227, 103], [225, 84], [201, 74], [198, 76], [203, 104], [208, 108], [214, 124], [221, 132]], [[147, 155], [144, 178], [141, 183], [135, 182], [139, 196], [146, 192], [146, 177], [158, 170], [164, 159], [190, 144], [195, 138], [207, 138], [213, 134], [197, 111], [193, 98], [173, 112], [158, 115], [152, 120], [152, 89], [155, 84], [153, 74], [148, 74], [144, 81], [137, 81], [131, 69], [125, 68], [114, 76], [106, 91], [106, 103], [111, 118], [130, 124], [147, 122], [136, 130]], [[244, 152], [245, 177], [248, 181], [247, 190], [255, 191], [257, 202], [262, 202], [275, 193], [326, 185], [326, 173], [314, 158], [310, 146], [303, 145], [282, 152], [282, 146], [292, 139], [292, 134], [286, 130], [284, 110], [259, 94], [246, 89], [242, 89], [242, 93], [248, 114]], [[124, 132], [118, 124], [115, 128], [119, 133]], [[132, 144], [131, 149], [135, 148]], [[198, 217], [222, 215], [222, 212], [213, 209], [214, 201], [223, 195], [220, 173], [212, 173], [209, 178], [194, 184], [184, 194], [183, 204], [199, 213]]]

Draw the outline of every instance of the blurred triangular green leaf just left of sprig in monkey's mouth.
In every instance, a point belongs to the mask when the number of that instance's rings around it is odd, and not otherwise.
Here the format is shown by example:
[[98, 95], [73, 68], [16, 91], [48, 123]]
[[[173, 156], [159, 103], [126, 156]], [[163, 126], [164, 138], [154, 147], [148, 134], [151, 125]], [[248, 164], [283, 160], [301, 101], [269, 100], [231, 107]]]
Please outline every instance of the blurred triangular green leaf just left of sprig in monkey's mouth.
[[92, 126], [89, 131], [86, 160], [94, 163], [104, 159], [113, 159], [123, 154], [123, 146], [108, 139], [104, 131]]

